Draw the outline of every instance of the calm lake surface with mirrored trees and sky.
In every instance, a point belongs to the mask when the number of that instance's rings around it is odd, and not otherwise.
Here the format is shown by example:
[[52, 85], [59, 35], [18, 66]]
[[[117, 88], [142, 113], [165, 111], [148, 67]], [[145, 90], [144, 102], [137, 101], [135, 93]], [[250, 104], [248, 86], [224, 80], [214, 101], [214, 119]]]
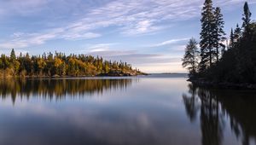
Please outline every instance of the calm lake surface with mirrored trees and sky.
[[1, 80], [0, 144], [255, 144], [255, 91], [186, 79]]

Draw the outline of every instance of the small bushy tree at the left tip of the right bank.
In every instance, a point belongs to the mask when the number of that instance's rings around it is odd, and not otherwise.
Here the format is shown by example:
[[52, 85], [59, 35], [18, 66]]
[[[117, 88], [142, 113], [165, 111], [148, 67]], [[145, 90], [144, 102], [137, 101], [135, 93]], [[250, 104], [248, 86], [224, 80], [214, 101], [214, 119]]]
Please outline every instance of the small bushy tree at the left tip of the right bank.
[[193, 76], [197, 72], [198, 67], [198, 55], [199, 50], [197, 48], [197, 43], [195, 38], [189, 40], [185, 49], [185, 55], [183, 56], [183, 67], [187, 67], [189, 70], [189, 75]]

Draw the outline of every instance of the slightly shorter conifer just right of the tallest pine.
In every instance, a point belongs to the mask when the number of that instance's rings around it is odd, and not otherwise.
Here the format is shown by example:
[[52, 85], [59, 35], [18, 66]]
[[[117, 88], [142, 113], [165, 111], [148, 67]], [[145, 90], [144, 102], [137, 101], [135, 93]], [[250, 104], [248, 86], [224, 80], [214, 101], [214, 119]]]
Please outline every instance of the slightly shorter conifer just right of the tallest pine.
[[225, 45], [223, 44], [224, 40], [226, 39], [224, 36], [226, 35], [224, 32], [224, 19], [223, 19], [223, 14], [221, 14], [221, 10], [219, 7], [217, 7], [214, 11], [214, 46], [216, 49], [215, 57], [216, 61], [218, 62], [219, 60], [219, 47], [222, 49], [225, 48]]

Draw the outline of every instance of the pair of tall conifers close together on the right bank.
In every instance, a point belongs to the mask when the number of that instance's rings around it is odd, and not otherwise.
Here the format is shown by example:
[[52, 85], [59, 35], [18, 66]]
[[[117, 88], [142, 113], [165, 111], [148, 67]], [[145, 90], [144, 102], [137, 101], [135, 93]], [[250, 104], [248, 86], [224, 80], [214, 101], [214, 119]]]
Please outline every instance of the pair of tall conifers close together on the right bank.
[[[200, 72], [204, 73], [214, 62], [219, 61], [220, 49], [224, 53], [224, 19], [220, 8], [213, 8], [212, 0], [206, 0], [201, 13], [201, 62]], [[222, 53], [222, 54], [223, 54]]]

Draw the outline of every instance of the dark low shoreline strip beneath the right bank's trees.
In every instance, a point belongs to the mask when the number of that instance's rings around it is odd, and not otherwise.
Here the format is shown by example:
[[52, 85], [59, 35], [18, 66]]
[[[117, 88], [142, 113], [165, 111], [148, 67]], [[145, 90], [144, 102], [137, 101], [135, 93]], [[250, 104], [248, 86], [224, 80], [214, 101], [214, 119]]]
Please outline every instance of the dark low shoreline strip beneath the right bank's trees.
[[236, 83], [229, 83], [229, 82], [213, 82], [213, 81], [207, 81], [207, 80], [198, 79], [198, 78], [189, 78], [187, 81], [199, 86], [216, 87], [220, 89], [256, 90], [256, 84], [249, 84], [249, 83], [236, 84]]

